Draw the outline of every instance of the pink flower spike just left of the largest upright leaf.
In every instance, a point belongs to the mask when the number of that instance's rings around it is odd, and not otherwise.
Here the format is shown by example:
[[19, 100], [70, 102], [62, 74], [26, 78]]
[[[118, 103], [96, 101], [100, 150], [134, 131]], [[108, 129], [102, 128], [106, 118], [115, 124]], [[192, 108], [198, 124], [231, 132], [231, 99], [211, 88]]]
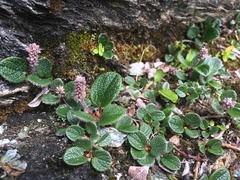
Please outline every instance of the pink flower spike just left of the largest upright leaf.
[[86, 80], [83, 76], [77, 76], [74, 81], [74, 96], [77, 101], [84, 102], [86, 97]]

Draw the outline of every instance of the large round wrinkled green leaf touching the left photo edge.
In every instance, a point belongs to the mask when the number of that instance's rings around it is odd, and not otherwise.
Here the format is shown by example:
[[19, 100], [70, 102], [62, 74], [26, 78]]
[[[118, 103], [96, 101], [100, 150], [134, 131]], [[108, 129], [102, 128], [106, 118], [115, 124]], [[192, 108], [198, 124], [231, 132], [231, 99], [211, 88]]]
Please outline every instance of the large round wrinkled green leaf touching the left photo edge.
[[0, 62], [0, 75], [9, 82], [20, 83], [26, 79], [27, 61], [19, 57], [8, 57]]

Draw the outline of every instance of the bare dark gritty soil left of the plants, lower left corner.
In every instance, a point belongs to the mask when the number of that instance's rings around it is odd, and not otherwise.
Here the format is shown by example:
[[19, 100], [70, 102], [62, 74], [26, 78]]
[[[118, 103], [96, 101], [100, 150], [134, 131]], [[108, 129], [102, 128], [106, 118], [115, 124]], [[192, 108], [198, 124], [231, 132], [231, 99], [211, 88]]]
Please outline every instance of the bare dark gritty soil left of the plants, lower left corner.
[[[104, 179], [103, 175], [93, 170], [89, 163], [70, 167], [63, 162], [62, 156], [69, 142], [66, 138], [55, 135], [56, 130], [64, 126], [64, 123], [55, 121], [51, 113], [13, 113], [6, 123], [8, 129], [1, 135], [1, 139], [17, 139], [18, 154], [28, 166], [20, 176], [15, 178], [7, 176], [4, 179]], [[29, 128], [28, 137], [20, 139], [18, 133], [24, 127]], [[0, 155], [5, 154], [7, 149], [10, 147], [0, 149]], [[3, 174], [2, 169], [0, 174]]]

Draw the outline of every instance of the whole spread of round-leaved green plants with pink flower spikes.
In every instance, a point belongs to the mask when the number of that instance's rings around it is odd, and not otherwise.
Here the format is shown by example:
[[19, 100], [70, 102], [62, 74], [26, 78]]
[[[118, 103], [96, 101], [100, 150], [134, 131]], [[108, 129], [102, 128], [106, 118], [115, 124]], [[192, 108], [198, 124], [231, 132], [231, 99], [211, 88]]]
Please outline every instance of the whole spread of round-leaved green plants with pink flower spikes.
[[[195, 42], [211, 41], [220, 35], [220, 21], [207, 19], [197, 27], [191, 24], [187, 36]], [[98, 48], [94, 50], [104, 58], [111, 58], [113, 43], [106, 34], [100, 34]], [[27, 60], [9, 57], [0, 62], [0, 75], [12, 83], [28, 80], [43, 91], [29, 104], [36, 107], [40, 102], [58, 104], [56, 114], [70, 126], [60, 129], [57, 134], [66, 135], [73, 146], [63, 155], [69, 165], [80, 165], [90, 161], [98, 171], [110, 169], [112, 157], [105, 149], [111, 142], [110, 133], [101, 133], [105, 127], [115, 128], [127, 135], [126, 143], [130, 153], [140, 165], [152, 166], [155, 162], [170, 173], [181, 168], [181, 160], [175, 154], [180, 152], [177, 144], [167, 140], [169, 134], [182, 135], [190, 139], [198, 138], [201, 156], [187, 156], [196, 161], [205, 161], [208, 153], [223, 154], [222, 141], [216, 138], [224, 132], [226, 123], [239, 126], [240, 103], [237, 93], [224, 88], [224, 78], [229, 78], [222, 60], [212, 57], [208, 49], [188, 49], [183, 42], [179, 48], [169, 46], [167, 62], [178, 67], [174, 82], [165, 77], [169, 71], [161, 62], [131, 65], [130, 75], [122, 78], [118, 73], [101, 74], [92, 84], [90, 98], [86, 98], [86, 80], [77, 76], [74, 81], [63, 82], [51, 76], [52, 65], [46, 58], [38, 59], [39, 46], [30, 45], [29, 66]], [[37, 59], [37, 61], [36, 61]], [[165, 64], [166, 65], [166, 64]], [[26, 75], [31, 68], [31, 74]], [[145, 76], [147, 74], [147, 76]], [[185, 104], [203, 103], [207, 116], [200, 110], [180, 108]], [[128, 107], [133, 105], [132, 110]], [[209, 111], [211, 109], [211, 111]], [[223, 119], [214, 121], [214, 119]], [[215, 171], [209, 179], [221, 176], [230, 178], [225, 168]], [[202, 176], [201, 179], [208, 179]]]

